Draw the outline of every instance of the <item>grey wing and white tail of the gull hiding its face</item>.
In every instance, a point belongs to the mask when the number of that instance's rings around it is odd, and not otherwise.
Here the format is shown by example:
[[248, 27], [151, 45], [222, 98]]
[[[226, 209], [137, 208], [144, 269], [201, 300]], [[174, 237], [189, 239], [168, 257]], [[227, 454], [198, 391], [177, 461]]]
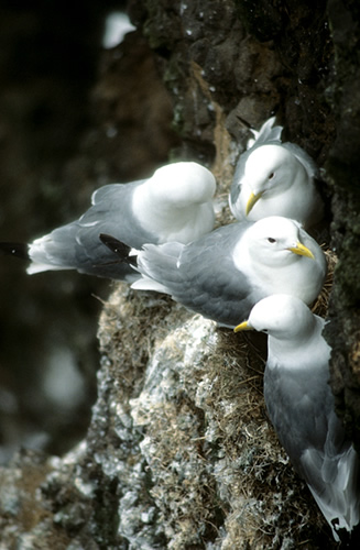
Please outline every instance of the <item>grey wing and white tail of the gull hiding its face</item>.
[[139, 275], [129, 265], [119, 262], [103, 246], [99, 235], [111, 234], [133, 248], [157, 242], [155, 235], [142, 230], [132, 215], [132, 193], [141, 183], [113, 184], [98, 189], [92, 195], [92, 206], [79, 220], [55, 229], [31, 245], [32, 261], [50, 268], [75, 268], [99, 277], [120, 280], [138, 278]]

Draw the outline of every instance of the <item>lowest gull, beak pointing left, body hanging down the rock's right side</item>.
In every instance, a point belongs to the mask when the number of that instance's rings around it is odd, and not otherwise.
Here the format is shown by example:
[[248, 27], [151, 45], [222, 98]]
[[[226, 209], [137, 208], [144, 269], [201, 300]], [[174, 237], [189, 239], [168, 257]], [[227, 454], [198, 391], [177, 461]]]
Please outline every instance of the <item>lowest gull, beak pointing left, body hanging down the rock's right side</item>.
[[234, 331], [269, 334], [264, 397], [270, 419], [339, 541], [338, 531], [351, 531], [360, 520], [360, 463], [334, 410], [324, 324], [299, 298], [280, 294], [260, 300]]

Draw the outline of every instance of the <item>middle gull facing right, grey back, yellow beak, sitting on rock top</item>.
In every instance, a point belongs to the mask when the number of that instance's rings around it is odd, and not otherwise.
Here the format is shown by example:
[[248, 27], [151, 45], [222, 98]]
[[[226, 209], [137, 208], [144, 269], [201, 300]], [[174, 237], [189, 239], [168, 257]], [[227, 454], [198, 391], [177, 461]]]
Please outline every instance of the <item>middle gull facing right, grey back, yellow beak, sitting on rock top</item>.
[[189, 244], [145, 244], [141, 251], [112, 235], [100, 240], [141, 274], [132, 288], [168, 294], [229, 328], [274, 293], [312, 304], [327, 271], [317, 242], [298, 222], [281, 217], [223, 226]]

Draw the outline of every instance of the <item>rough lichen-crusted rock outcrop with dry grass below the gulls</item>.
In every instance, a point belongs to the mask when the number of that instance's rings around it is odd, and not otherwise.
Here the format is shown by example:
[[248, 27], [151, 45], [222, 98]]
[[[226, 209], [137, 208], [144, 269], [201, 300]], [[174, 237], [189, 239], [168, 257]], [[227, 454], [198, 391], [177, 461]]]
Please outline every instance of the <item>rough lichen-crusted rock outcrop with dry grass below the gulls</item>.
[[257, 345], [124, 285], [99, 340], [86, 440], [1, 472], [9, 548], [331, 546], [266, 419]]

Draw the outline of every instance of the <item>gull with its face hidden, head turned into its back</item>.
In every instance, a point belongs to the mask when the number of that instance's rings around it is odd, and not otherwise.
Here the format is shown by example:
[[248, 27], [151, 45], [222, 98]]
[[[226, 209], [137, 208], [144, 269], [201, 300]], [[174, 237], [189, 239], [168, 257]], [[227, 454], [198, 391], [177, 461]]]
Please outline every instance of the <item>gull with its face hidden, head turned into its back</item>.
[[29, 245], [0, 243], [0, 249], [31, 260], [29, 274], [74, 268], [131, 282], [137, 273], [127, 264], [113, 264], [113, 255], [99, 242], [99, 234], [111, 233], [135, 248], [174, 240], [190, 242], [214, 229], [215, 190], [214, 175], [200, 164], [168, 164], [149, 179], [101, 187], [79, 220]]

